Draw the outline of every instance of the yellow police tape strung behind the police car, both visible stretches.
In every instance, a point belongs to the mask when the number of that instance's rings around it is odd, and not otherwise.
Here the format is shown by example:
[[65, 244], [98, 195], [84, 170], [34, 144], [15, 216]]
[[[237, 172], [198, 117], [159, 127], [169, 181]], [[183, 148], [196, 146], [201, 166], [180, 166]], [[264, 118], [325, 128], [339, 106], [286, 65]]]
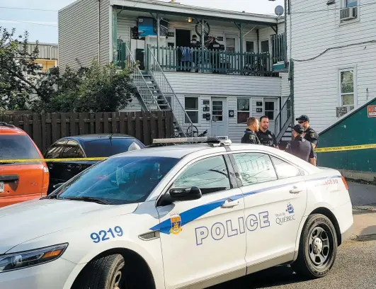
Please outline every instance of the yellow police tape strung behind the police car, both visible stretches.
[[[371, 145], [348, 145], [346, 147], [319, 147], [314, 152], [343, 152], [355, 149], [376, 149], [376, 144]], [[79, 162], [79, 161], [102, 161], [107, 157], [81, 157], [72, 159], [0, 159], [0, 163], [15, 162]]]

